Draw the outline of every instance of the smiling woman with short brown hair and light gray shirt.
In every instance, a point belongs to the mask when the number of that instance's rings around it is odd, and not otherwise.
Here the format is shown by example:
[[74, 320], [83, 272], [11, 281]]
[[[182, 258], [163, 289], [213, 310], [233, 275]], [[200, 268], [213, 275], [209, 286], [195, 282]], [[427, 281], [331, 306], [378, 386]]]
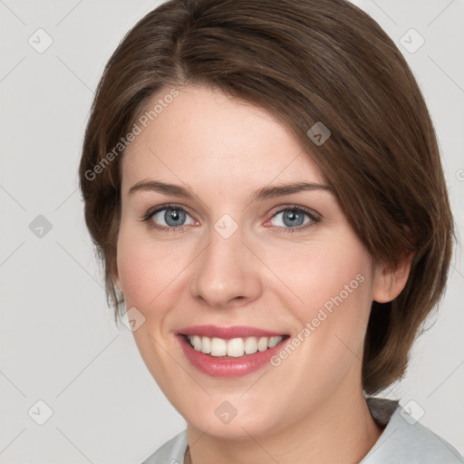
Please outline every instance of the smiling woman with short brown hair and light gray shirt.
[[172, 0], [113, 53], [80, 167], [117, 320], [187, 430], [144, 462], [464, 462], [397, 401], [453, 219], [430, 115], [343, 0]]

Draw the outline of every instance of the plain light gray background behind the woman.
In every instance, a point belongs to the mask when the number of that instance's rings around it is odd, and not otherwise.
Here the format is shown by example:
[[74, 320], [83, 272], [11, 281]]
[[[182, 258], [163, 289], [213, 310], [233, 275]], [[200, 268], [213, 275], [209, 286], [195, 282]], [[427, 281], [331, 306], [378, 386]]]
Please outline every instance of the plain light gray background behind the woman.
[[[185, 428], [131, 332], [113, 324], [77, 188], [103, 66], [159, 3], [0, 0], [2, 464], [138, 464]], [[462, 236], [464, 2], [355, 3], [391, 35], [418, 78]], [[384, 392], [461, 453], [463, 287], [459, 247], [439, 316], [415, 344], [405, 379]]]

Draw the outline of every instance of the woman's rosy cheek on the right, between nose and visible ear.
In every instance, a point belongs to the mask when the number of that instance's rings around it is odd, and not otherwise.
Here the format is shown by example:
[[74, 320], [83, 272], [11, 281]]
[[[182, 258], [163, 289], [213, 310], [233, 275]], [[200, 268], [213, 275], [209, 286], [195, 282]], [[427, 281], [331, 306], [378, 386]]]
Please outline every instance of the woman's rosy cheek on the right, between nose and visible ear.
[[342, 375], [356, 357], [362, 358], [372, 303], [371, 256], [356, 237], [344, 232], [343, 237], [295, 249], [275, 263], [291, 290], [285, 295], [294, 302], [285, 304], [282, 297], [283, 307], [301, 327], [295, 340], [299, 362], [325, 372], [326, 379], [333, 379], [334, 372]]

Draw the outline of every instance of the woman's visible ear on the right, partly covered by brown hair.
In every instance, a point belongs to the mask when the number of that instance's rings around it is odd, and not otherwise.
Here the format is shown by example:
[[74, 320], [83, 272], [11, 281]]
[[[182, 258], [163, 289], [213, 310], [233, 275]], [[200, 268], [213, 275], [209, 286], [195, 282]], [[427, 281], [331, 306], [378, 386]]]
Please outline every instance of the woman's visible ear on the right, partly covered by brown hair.
[[372, 298], [378, 303], [388, 303], [401, 294], [408, 281], [411, 271], [411, 261], [414, 254], [401, 258], [394, 265], [377, 266], [372, 281]]

